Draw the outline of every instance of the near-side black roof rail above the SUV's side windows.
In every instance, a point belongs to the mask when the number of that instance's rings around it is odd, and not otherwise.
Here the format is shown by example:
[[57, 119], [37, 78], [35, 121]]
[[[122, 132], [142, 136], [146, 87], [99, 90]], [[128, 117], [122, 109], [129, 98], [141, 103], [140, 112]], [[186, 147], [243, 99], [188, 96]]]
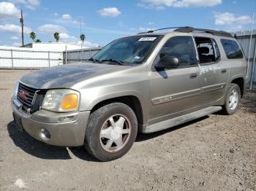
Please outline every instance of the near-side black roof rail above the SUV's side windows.
[[215, 30], [211, 30], [211, 29], [193, 28], [193, 27], [190, 27], [190, 26], [183, 27], [183, 28], [177, 28], [174, 31], [183, 32], [183, 33], [190, 33], [190, 32], [193, 32], [193, 31], [199, 31], [199, 32], [205, 32], [205, 33], [213, 34], [213, 35], [216, 35], [216, 36], [233, 37], [230, 33], [227, 33], [225, 31], [215, 31]]

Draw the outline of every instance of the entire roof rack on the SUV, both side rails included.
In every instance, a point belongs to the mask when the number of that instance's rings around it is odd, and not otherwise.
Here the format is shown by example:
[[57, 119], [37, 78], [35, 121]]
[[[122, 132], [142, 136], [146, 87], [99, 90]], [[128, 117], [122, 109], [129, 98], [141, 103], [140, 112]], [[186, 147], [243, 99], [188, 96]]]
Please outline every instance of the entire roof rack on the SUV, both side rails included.
[[211, 29], [203, 29], [203, 28], [193, 28], [191, 26], [180, 26], [180, 27], [167, 27], [167, 28], [159, 28], [156, 30], [152, 30], [152, 31], [147, 31], [147, 32], [142, 32], [139, 34], [146, 34], [146, 33], [154, 33], [154, 31], [162, 31], [165, 29], [173, 29], [176, 28], [176, 32], [181, 32], [181, 33], [190, 33], [193, 31], [199, 31], [199, 32], [205, 32], [208, 34], [212, 34], [215, 36], [227, 36], [227, 37], [233, 37], [230, 33], [227, 33], [225, 31], [215, 31], [215, 30], [211, 30]]

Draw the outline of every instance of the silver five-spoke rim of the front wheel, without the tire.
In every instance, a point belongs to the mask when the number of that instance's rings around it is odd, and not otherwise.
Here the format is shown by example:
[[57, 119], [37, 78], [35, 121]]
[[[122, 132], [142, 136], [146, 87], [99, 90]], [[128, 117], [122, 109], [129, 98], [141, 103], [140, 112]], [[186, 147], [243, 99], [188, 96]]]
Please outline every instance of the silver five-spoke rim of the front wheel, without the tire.
[[114, 114], [105, 120], [99, 133], [99, 141], [107, 152], [117, 152], [129, 141], [131, 123], [124, 114]]

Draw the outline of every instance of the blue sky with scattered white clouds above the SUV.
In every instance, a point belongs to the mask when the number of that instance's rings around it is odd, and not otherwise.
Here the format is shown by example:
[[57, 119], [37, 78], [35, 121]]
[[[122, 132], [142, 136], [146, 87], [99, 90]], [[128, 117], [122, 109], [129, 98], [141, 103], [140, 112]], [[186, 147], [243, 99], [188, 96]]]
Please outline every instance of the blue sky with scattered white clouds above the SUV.
[[[20, 9], [24, 41], [36, 39], [104, 46], [113, 39], [171, 26], [193, 26], [225, 31], [249, 30], [256, 0], [5, 0], [0, 1], [0, 45], [20, 46]], [[256, 23], [256, 15], [255, 15]], [[255, 27], [254, 27], [255, 28]]]

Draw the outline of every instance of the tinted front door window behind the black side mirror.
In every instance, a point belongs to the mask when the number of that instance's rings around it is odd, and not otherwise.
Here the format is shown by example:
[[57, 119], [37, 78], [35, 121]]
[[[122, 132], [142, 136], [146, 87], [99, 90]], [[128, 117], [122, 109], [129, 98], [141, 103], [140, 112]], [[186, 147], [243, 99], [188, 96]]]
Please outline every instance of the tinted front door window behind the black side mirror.
[[189, 36], [176, 36], [169, 39], [160, 51], [160, 58], [164, 55], [179, 59], [180, 67], [195, 64], [194, 44]]

